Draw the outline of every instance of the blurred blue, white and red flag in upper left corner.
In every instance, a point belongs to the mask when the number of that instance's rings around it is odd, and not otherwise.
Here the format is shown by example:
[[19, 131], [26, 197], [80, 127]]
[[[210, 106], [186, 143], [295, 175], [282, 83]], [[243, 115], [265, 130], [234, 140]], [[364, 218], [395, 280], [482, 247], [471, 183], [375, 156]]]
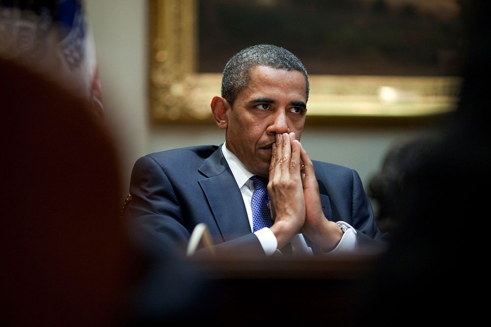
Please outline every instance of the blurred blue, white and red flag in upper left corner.
[[0, 0], [0, 56], [52, 75], [103, 117], [94, 41], [82, 0]]

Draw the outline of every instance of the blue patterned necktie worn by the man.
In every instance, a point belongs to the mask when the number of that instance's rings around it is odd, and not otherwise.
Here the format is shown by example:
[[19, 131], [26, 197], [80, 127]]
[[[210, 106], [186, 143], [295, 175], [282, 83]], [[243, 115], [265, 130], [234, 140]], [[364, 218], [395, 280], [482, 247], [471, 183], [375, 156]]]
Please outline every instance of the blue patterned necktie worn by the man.
[[266, 186], [268, 181], [259, 176], [252, 176], [250, 180], [254, 183], [254, 192], [250, 201], [252, 209], [252, 231], [255, 232], [264, 227], [271, 227], [270, 196]]

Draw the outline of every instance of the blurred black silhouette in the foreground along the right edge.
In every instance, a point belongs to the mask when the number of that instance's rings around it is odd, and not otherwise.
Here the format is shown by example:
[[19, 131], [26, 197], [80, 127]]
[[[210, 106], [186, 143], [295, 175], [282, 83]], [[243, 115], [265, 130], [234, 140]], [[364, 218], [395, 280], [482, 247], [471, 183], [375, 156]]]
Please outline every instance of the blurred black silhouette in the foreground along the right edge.
[[458, 109], [441, 144], [407, 183], [405, 201], [391, 213], [401, 226], [368, 280], [355, 326], [373, 325], [374, 311], [390, 326], [471, 326], [486, 312], [476, 294], [488, 283], [490, 6], [465, 2], [469, 38]]

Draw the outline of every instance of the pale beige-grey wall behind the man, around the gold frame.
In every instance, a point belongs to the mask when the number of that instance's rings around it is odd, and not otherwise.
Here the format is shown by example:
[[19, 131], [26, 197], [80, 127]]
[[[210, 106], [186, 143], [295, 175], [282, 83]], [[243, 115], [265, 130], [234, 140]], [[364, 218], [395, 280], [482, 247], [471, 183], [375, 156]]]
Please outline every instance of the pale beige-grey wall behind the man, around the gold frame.
[[[146, 153], [196, 144], [220, 144], [214, 125], [152, 125], [147, 100], [147, 6], [143, 0], [86, 0], [95, 39], [106, 117], [121, 145], [125, 185]], [[307, 67], [308, 68], [308, 67]], [[313, 159], [354, 168], [365, 186], [389, 146], [420, 132], [416, 126], [309, 126], [302, 144]]]

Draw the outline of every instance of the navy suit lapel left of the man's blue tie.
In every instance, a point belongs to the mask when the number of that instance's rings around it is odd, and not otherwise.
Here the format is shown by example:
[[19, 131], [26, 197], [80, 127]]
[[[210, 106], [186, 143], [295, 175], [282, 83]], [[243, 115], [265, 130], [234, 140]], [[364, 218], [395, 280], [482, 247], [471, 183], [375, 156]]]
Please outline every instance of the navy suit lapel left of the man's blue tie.
[[242, 194], [237, 186], [221, 146], [205, 159], [199, 172], [205, 176], [199, 185], [203, 190], [224, 241], [250, 233]]

